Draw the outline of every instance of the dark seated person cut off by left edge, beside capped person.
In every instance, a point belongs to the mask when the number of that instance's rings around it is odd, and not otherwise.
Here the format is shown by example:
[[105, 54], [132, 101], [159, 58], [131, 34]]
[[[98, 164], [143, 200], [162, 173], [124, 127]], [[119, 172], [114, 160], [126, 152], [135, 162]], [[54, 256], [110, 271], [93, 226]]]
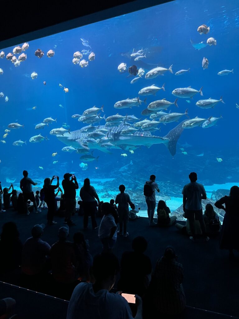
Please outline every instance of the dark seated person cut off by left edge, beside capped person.
[[5, 223], [0, 239], [0, 272], [17, 269], [22, 256], [22, 242], [17, 225], [12, 221]]

